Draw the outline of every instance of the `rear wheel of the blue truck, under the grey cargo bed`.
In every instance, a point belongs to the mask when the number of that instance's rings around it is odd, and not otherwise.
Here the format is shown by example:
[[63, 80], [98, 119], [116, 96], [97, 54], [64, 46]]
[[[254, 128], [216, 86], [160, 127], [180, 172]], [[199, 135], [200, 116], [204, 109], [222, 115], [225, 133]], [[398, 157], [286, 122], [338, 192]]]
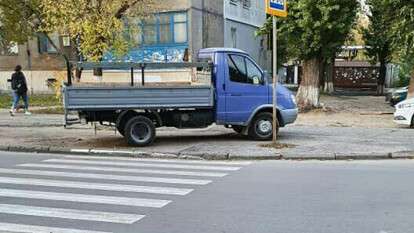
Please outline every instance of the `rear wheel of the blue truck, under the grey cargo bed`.
[[151, 145], [154, 142], [155, 134], [154, 123], [145, 116], [133, 117], [125, 126], [125, 138], [131, 146]]

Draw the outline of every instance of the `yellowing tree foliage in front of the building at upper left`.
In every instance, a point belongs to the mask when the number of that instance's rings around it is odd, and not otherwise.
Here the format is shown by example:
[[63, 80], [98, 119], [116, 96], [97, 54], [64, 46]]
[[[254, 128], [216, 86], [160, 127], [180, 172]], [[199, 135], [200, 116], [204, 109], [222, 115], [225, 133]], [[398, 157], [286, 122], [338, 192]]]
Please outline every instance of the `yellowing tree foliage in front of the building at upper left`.
[[110, 49], [126, 51], [126, 17], [147, 15], [155, 6], [155, 0], [1, 0], [0, 22], [8, 41], [25, 43], [43, 34], [68, 62], [49, 37], [58, 32], [76, 42], [88, 60], [99, 61]]

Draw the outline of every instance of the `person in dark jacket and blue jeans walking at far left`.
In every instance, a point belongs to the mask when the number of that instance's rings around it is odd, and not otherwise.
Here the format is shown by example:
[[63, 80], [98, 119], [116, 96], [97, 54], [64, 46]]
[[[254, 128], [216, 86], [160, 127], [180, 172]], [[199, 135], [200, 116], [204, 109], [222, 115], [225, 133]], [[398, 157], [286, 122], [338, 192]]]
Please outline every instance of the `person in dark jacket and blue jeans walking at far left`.
[[13, 106], [10, 110], [10, 115], [14, 116], [17, 112], [20, 98], [24, 101], [24, 112], [26, 115], [31, 115], [29, 112], [29, 97], [27, 96], [27, 82], [26, 77], [22, 72], [20, 65], [14, 69], [15, 73], [12, 75], [12, 93], [13, 93]]

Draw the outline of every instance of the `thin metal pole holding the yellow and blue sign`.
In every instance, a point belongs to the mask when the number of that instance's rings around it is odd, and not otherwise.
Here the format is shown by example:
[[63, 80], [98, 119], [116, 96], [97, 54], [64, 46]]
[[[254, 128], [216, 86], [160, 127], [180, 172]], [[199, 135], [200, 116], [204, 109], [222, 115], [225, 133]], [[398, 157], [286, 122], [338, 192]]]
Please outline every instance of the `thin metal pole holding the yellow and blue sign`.
[[277, 142], [277, 18], [273, 17], [273, 143]]

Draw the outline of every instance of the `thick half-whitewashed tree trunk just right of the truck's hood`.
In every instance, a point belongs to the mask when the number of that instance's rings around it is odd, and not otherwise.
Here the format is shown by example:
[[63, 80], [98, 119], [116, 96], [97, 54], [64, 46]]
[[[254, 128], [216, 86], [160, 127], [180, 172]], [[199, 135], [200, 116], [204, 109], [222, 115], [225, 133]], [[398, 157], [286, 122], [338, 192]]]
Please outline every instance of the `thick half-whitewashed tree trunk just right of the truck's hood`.
[[318, 58], [303, 62], [303, 78], [300, 84], [297, 99], [302, 111], [319, 107], [319, 77], [320, 60]]

